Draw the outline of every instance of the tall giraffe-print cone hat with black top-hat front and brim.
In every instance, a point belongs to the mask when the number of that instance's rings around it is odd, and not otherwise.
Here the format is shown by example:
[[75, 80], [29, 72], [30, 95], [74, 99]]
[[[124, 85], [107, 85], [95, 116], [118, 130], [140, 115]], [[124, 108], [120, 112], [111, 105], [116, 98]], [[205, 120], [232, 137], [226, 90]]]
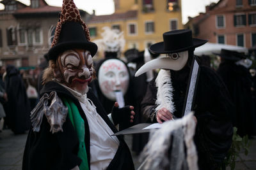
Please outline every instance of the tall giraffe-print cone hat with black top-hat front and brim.
[[56, 60], [61, 52], [72, 48], [88, 50], [92, 56], [98, 49], [95, 43], [90, 42], [89, 29], [81, 19], [74, 1], [63, 0], [60, 20], [56, 26], [48, 57], [50, 60]]

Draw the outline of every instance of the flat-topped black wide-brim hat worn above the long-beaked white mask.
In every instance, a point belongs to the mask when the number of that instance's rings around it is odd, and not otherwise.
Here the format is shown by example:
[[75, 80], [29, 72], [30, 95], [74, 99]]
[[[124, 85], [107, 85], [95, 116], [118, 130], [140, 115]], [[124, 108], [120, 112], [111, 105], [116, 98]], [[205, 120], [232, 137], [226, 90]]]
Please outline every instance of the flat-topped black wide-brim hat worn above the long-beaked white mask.
[[184, 52], [191, 48], [207, 43], [205, 39], [192, 38], [190, 29], [179, 29], [175, 31], [164, 32], [162, 42], [149, 47], [152, 53], [176, 53]]

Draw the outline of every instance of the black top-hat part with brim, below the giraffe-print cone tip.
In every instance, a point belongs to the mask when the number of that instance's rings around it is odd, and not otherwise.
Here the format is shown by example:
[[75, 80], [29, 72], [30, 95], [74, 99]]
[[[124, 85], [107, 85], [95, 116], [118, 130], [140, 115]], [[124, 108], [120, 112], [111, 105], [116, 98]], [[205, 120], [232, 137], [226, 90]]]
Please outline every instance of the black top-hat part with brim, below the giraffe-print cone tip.
[[61, 26], [61, 32], [58, 43], [49, 50], [50, 60], [56, 60], [61, 52], [72, 48], [81, 48], [88, 50], [92, 57], [98, 50], [98, 46], [86, 39], [83, 27], [78, 22], [66, 22]]

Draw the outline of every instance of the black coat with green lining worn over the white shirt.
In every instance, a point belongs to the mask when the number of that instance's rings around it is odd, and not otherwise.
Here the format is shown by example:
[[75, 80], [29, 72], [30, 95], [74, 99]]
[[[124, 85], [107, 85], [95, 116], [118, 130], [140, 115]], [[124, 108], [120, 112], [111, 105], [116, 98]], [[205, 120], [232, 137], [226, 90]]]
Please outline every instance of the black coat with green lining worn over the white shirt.
[[[76, 97], [72, 96], [67, 89], [54, 81], [47, 82], [41, 92], [42, 94], [49, 94], [52, 91], [56, 91], [60, 98], [65, 97], [71, 99], [74, 104], [76, 104], [79, 113], [84, 120], [84, 143], [86, 145], [87, 159], [90, 167], [90, 152], [93, 152], [90, 151], [90, 127], [88, 126], [81, 105]], [[95, 104], [97, 113], [99, 113], [100, 117], [103, 118], [112, 131], [114, 133], [117, 132], [115, 126], [110, 122], [102, 105], [91, 90], [87, 93], [87, 97], [92, 100], [93, 104]], [[120, 141], [120, 145], [114, 159], [109, 164], [108, 169], [134, 169], [128, 146], [122, 137], [117, 136], [117, 138]], [[22, 169], [72, 169], [76, 165], [81, 164], [81, 159], [77, 157], [78, 145], [77, 134], [72, 126], [70, 118], [66, 118], [66, 122], [63, 124], [63, 132], [52, 134], [50, 132], [50, 125], [44, 116], [40, 132], [33, 132], [32, 129], [29, 131]]]

